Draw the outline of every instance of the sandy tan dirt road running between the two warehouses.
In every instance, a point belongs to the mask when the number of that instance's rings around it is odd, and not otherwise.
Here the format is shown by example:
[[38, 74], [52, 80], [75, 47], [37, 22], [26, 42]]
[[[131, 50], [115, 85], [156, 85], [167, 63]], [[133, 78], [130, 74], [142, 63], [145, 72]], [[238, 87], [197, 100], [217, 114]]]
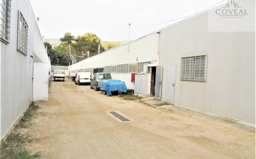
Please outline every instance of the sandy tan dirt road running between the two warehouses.
[[[106, 97], [88, 85], [52, 82], [25, 133], [42, 158], [255, 158], [255, 129], [180, 108]], [[121, 122], [118, 111], [130, 122]]]

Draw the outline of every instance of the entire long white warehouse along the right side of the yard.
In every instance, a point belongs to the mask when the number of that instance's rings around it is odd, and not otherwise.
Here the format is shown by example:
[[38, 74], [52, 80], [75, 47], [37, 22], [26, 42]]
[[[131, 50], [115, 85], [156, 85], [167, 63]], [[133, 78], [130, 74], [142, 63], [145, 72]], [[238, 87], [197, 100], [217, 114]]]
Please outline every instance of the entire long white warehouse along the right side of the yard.
[[255, 30], [209, 32], [210, 14], [214, 9], [80, 61], [69, 71], [101, 69], [140, 95], [255, 127]]

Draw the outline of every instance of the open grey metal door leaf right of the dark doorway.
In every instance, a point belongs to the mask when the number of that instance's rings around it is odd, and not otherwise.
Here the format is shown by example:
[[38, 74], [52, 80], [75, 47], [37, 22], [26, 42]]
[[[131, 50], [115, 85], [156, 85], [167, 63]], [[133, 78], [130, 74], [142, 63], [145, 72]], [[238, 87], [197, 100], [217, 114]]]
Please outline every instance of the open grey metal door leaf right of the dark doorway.
[[161, 99], [161, 91], [162, 91], [162, 72], [163, 67], [157, 66], [155, 71], [155, 98], [158, 100]]

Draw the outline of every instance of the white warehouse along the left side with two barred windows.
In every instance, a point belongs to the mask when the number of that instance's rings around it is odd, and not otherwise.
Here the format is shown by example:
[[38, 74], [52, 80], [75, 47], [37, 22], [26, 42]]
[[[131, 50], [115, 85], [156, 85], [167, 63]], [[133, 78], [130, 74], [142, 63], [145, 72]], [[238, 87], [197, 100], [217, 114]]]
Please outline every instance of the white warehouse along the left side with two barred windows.
[[3, 139], [32, 101], [48, 100], [50, 60], [29, 0], [4, 0], [0, 4]]

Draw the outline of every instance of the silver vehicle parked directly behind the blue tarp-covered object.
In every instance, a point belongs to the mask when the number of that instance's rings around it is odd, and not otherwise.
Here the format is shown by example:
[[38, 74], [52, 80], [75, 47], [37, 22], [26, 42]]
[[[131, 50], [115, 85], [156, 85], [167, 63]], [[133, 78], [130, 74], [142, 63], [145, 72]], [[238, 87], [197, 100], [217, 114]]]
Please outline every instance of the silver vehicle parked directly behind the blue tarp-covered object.
[[91, 77], [91, 89], [94, 89], [95, 91], [99, 90], [99, 82], [107, 79], [112, 79], [111, 74], [109, 73], [96, 73], [93, 74], [93, 77]]

